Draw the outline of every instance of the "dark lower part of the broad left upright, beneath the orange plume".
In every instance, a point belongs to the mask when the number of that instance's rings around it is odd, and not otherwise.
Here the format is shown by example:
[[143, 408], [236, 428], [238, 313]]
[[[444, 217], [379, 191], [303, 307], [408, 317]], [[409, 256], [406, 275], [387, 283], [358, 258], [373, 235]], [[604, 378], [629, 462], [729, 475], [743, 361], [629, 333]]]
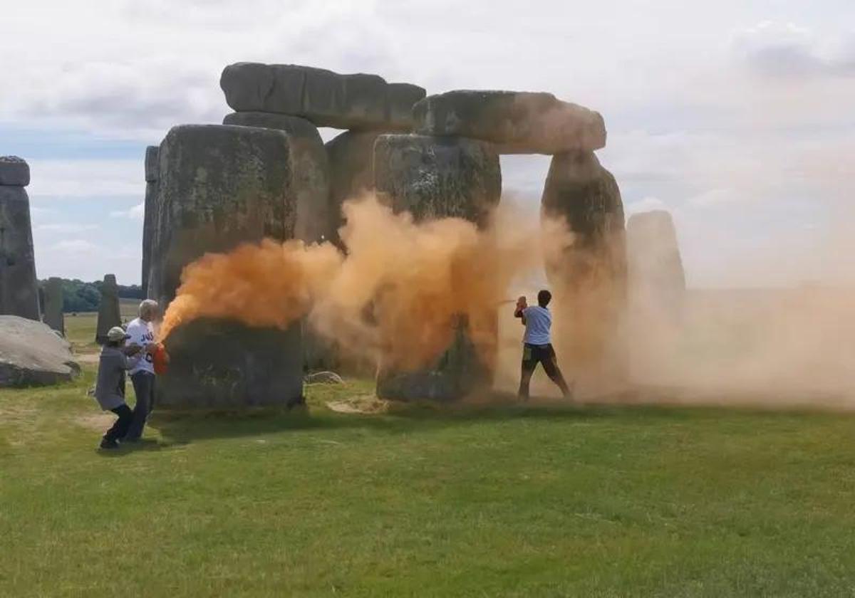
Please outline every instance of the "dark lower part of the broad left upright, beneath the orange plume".
[[300, 327], [250, 328], [200, 319], [166, 340], [168, 372], [158, 378], [157, 406], [239, 410], [303, 402], [303, 362], [294, 359]]

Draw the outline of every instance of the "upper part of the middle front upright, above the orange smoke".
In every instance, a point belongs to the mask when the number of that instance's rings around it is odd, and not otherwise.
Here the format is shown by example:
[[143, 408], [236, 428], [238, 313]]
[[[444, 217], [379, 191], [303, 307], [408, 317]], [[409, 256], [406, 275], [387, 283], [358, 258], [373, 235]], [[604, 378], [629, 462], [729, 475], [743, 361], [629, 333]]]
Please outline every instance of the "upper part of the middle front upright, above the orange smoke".
[[482, 226], [502, 193], [502, 172], [490, 144], [381, 135], [374, 144], [374, 187], [416, 220], [457, 217]]

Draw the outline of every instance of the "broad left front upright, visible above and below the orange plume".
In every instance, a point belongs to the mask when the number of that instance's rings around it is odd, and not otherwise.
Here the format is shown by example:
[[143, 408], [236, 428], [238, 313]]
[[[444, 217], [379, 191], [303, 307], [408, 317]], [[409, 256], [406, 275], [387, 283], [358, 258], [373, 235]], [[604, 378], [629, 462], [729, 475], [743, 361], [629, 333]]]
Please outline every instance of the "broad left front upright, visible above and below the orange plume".
[[[174, 298], [181, 270], [209, 251], [300, 230], [305, 156], [286, 132], [250, 126], [175, 126], [160, 146], [161, 202], [150, 296]], [[287, 406], [302, 401], [300, 325], [253, 328], [194, 320], [165, 340], [171, 357], [158, 404], [173, 409]]]

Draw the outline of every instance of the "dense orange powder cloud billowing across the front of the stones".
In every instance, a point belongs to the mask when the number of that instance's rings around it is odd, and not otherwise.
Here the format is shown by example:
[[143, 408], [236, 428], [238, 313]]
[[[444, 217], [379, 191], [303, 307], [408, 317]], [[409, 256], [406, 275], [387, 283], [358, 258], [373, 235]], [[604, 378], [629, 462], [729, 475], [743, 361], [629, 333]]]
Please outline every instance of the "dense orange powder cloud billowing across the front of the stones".
[[497, 302], [512, 278], [540, 266], [536, 228], [499, 208], [479, 230], [456, 218], [414, 222], [366, 196], [345, 202], [345, 258], [330, 243], [242, 245], [187, 266], [160, 331], [198, 317], [286, 327], [304, 315], [345, 353], [403, 368], [422, 366], [451, 342], [465, 316], [489, 355]]

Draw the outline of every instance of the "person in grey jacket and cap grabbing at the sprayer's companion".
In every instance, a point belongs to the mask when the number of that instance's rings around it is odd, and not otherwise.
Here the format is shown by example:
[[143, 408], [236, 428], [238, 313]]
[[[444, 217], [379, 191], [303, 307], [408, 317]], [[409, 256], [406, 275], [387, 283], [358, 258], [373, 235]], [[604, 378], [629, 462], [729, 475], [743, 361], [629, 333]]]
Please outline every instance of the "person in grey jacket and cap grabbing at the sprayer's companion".
[[98, 358], [95, 399], [104, 411], [112, 411], [118, 417], [101, 439], [101, 448], [119, 448], [119, 439], [125, 437], [133, 421], [133, 411], [125, 402], [125, 372], [137, 364], [143, 347], [123, 347], [126, 339], [121, 326], [110, 328]]

